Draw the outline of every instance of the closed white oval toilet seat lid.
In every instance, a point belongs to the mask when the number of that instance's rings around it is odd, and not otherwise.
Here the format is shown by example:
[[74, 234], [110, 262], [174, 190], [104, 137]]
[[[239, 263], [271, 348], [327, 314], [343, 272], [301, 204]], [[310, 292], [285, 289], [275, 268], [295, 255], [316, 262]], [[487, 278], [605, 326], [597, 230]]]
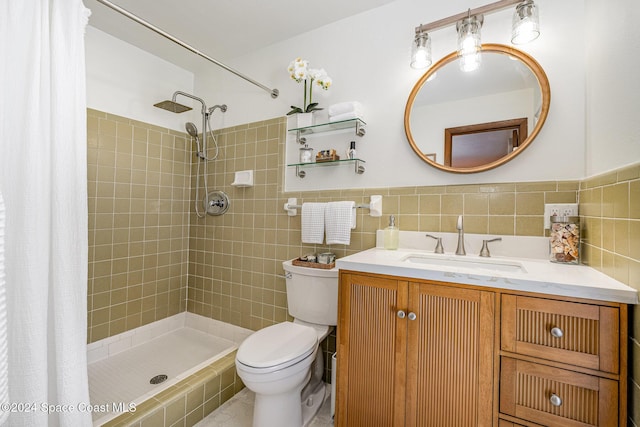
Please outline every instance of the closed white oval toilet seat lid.
[[306, 356], [317, 345], [315, 329], [283, 322], [251, 334], [238, 348], [236, 358], [247, 366], [269, 368]]

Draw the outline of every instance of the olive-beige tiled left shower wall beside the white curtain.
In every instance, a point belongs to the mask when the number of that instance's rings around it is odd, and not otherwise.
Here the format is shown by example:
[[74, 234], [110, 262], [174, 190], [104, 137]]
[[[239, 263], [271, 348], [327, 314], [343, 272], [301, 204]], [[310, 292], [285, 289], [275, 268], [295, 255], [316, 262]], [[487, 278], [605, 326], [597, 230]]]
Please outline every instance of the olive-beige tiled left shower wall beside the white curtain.
[[185, 310], [190, 150], [184, 134], [87, 110], [88, 341]]

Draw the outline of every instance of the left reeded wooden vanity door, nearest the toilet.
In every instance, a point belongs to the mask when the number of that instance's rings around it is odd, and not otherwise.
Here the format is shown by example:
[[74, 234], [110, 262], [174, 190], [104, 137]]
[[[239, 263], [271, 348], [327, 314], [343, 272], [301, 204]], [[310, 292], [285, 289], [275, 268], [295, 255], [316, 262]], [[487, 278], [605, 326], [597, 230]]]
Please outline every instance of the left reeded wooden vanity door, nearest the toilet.
[[405, 423], [407, 282], [342, 274], [336, 425]]

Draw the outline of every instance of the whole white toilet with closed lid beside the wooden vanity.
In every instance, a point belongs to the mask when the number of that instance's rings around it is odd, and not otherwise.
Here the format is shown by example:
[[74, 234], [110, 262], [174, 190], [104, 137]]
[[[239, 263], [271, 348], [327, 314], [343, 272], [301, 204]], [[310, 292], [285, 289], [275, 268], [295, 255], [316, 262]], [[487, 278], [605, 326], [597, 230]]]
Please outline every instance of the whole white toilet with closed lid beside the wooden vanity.
[[255, 392], [253, 427], [302, 427], [325, 397], [319, 343], [338, 320], [338, 269], [282, 263], [293, 322], [251, 334], [238, 348], [236, 370]]

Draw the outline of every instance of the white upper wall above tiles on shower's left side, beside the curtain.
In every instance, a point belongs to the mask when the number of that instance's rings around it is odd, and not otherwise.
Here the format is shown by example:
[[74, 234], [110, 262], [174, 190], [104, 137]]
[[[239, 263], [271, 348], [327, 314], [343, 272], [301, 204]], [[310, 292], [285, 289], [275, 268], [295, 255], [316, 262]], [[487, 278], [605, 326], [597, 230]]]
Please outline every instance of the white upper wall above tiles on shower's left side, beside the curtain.
[[85, 37], [87, 106], [100, 111], [184, 132], [184, 123], [200, 123], [200, 107], [188, 98], [177, 101], [197, 109], [182, 114], [153, 104], [173, 92], [193, 93], [194, 75], [129, 43], [88, 26]]

